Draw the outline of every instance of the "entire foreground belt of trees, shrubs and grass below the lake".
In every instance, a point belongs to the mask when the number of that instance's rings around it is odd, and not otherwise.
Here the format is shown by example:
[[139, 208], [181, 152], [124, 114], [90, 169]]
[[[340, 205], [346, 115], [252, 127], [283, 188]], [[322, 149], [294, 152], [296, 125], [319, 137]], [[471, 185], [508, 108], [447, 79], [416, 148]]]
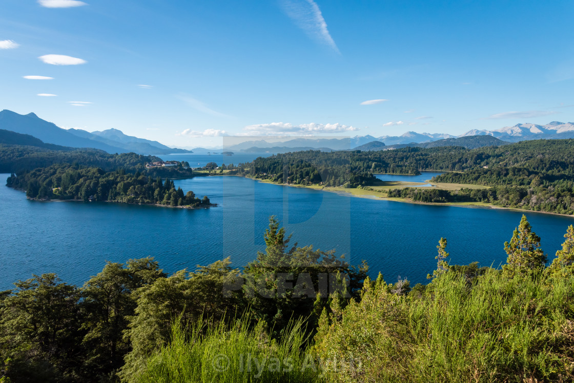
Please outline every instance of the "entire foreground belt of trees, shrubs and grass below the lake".
[[0, 292], [0, 381], [574, 379], [572, 225], [549, 259], [523, 216], [501, 269], [449, 263], [441, 238], [416, 286], [292, 245], [274, 217], [263, 237], [243, 269], [168, 275], [147, 257], [81, 287], [51, 273], [15, 282]]

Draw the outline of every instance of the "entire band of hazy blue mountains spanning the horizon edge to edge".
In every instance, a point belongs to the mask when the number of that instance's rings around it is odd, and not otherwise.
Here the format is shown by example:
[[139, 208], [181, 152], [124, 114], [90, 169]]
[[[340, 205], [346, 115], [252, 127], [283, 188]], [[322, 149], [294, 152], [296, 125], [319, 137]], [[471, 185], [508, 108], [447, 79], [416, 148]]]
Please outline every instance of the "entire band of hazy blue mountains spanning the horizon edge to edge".
[[[137, 138], [123, 134], [122, 131], [111, 128], [104, 131], [87, 132], [81, 129], [63, 129], [51, 122], [30, 113], [20, 115], [9, 110], [0, 111], [0, 129], [28, 134], [42, 140], [45, 144], [53, 144], [76, 148], [97, 148], [108, 153], [138, 154], [172, 154], [193, 153], [191, 150], [172, 148], [157, 141]], [[471, 137], [482, 139], [470, 139]], [[491, 138], [486, 138], [487, 136]], [[565, 139], [574, 138], [574, 123], [553, 121], [546, 125], [517, 124], [497, 130], [470, 130], [460, 136], [444, 133], [405, 132], [400, 136], [371, 135], [354, 136], [352, 138], [286, 138], [277, 140], [250, 140], [226, 146], [219, 149], [196, 148], [194, 151], [245, 151], [251, 153], [284, 153], [297, 150], [383, 150], [404, 146], [435, 147], [435, 146], [464, 146], [467, 148], [480, 146], [501, 145], [506, 142], [518, 142], [533, 139]]]

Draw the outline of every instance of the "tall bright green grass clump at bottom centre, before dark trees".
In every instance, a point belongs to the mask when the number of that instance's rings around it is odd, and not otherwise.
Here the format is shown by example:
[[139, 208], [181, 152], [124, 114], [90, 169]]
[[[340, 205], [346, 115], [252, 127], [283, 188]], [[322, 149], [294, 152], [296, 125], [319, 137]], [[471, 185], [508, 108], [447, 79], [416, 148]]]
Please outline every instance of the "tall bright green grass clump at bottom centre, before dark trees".
[[185, 329], [172, 326], [172, 342], [148, 359], [130, 382], [315, 382], [317, 364], [304, 352], [302, 321], [291, 321], [280, 341], [263, 326], [250, 327], [243, 316], [231, 326], [224, 321]]

